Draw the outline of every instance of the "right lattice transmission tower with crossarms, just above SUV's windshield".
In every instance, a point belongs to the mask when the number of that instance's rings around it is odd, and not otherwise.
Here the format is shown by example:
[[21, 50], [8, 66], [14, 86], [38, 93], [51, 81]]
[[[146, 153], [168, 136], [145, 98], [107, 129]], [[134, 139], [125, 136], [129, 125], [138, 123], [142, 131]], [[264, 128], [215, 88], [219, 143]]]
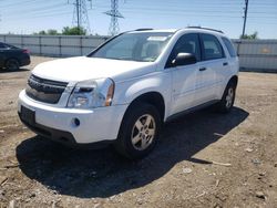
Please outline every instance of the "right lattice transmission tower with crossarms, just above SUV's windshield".
[[111, 15], [109, 34], [117, 34], [120, 32], [120, 24], [117, 18], [124, 18], [119, 11], [119, 0], [111, 0], [111, 10], [104, 13]]

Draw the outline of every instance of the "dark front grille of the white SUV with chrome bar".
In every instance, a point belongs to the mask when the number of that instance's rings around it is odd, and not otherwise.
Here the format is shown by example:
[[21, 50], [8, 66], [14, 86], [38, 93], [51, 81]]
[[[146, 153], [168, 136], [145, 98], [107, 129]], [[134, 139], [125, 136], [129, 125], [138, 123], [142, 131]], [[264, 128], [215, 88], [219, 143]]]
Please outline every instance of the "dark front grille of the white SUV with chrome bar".
[[55, 104], [59, 102], [66, 85], [66, 82], [45, 80], [32, 74], [28, 80], [25, 93], [35, 101]]

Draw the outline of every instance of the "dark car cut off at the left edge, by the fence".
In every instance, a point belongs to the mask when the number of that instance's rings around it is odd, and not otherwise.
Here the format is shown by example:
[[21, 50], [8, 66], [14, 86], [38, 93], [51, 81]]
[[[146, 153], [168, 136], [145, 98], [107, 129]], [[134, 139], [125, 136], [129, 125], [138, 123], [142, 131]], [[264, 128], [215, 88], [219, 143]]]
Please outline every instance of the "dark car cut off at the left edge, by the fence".
[[29, 50], [0, 42], [0, 69], [13, 71], [30, 63]]

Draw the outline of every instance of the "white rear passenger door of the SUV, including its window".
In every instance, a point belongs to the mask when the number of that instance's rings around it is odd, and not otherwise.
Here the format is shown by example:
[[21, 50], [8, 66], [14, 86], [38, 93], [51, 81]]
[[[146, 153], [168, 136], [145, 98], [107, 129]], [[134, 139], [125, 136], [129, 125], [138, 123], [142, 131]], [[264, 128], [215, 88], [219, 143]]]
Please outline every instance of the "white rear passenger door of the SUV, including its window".
[[201, 33], [202, 62], [199, 63], [199, 74], [197, 87], [199, 92], [196, 103], [202, 104], [217, 100], [220, 81], [217, 73], [226, 64], [225, 53], [216, 35]]

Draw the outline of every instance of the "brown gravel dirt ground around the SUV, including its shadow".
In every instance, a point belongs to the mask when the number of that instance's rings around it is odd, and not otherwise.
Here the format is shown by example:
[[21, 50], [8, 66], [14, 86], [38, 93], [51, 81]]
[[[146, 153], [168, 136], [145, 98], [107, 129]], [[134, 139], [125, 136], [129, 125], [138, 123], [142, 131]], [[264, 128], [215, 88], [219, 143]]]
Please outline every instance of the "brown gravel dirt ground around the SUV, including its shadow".
[[154, 152], [130, 162], [20, 123], [18, 93], [48, 60], [0, 72], [0, 207], [277, 207], [277, 74], [242, 72], [228, 115], [204, 110], [168, 123]]

